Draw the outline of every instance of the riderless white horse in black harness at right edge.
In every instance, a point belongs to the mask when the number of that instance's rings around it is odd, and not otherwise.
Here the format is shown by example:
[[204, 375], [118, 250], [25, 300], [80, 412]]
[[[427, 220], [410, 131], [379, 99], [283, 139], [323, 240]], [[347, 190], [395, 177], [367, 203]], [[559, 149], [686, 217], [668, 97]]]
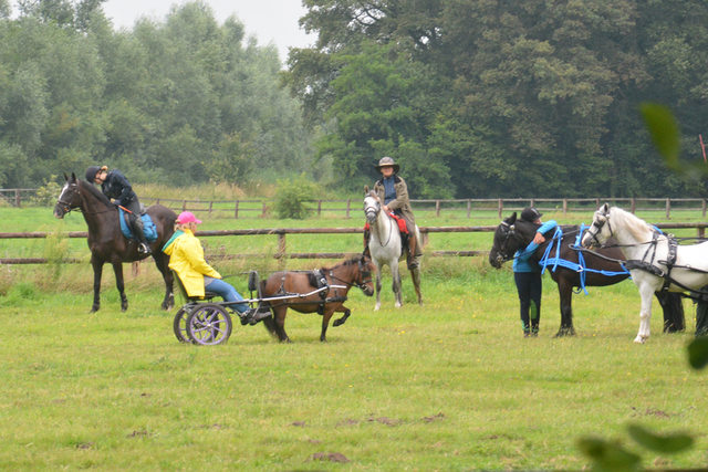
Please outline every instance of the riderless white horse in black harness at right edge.
[[708, 244], [681, 245], [678, 251], [673, 235], [662, 234], [634, 214], [605, 203], [595, 212], [582, 245], [602, 245], [610, 237], [620, 243], [627, 258], [624, 266], [639, 289], [641, 323], [634, 342], [644, 343], [649, 338], [654, 292], [689, 292], [695, 296], [708, 285]]

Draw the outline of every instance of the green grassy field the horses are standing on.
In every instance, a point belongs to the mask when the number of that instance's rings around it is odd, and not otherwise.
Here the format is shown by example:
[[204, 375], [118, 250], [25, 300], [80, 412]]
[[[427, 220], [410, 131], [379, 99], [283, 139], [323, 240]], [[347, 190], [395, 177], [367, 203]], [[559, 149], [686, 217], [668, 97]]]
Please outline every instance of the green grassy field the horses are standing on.
[[[49, 216], [48, 216], [49, 213]], [[584, 218], [562, 223], [590, 222]], [[0, 209], [2, 232], [83, 231], [80, 214]], [[476, 220], [473, 224], [494, 224]], [[673, 221], [679, 221], [673, 218]], [[683, 220], [681, 220], [683, 221]], [[660, 222], [658, 220], [652, 222]], [[361, 219], [205, 220], [204, 229], [352, 227]], [[420, 225], [471, 225], [419, 217]], [[267, 253], [274, 237], [209, 239], [210, 248]], [[356, 251], [361, 235], [289, 237], [289, 251]], [[0, 240], [6, 256], [85, 256], [83, 240]], [[52, 248], [48, 248], [51, 245]], [[490, 233], [434, 234], [434, 249], [491, 245]], [[60, 248], [61, 249], [61, 248]], [[288, 261], [290, 268], [334, 261]], [[247, 295], [244, 272], [268, 258], [220, 262]], [[575, 441], [615, 439], [648, 469], [708, 465], [708, 378], [686, 363], [690, 333], [635, 345], [639, 296], [631, 282], [574, 297], [579, 335], [555, 339], [559, 297], [544, 279], [541, 335], [524, 339], [510, 268], [482, 258], [426, 259], [426, 304], [383, 310], [352, 292], [352, 317], [319, 342], [320, 317], [289, 313], [291, 345], [261, 326], [235, 326], [228, 344], [196, 347], [173, 335], [152, 264], [126, 266], [131, 306], [121, 313], [111, 271], [102, 308], [88, 314], [87, 264], [0, 266], [0, 470], [466, 471], [581, 470]], [[1, 293], [1, 292], [0, 292]], [[695, 308], [685, 302], [693, 331]], [[659, 457], [625, 432], [687, 431], [688, 452]]]

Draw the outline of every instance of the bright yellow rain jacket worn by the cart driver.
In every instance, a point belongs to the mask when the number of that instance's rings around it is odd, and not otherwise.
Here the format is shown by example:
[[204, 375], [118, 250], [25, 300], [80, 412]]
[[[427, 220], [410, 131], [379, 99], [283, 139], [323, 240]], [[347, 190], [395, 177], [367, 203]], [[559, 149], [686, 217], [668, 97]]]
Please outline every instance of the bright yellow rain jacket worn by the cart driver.
[[169, 269], [177, 272], [187, 295], [204, 298], [204, 276], [221, 279], [221, 275], [204, 260], [204, 249], [191, 231], [176, 231], [163, 252], [169, 255]]

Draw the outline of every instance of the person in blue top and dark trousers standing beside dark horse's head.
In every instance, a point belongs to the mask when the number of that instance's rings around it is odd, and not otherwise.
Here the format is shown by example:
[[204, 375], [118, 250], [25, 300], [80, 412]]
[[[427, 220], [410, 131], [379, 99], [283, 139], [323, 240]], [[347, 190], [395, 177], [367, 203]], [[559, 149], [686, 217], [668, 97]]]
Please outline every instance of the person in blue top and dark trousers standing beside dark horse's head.
[[535, 262], [529, 261], [529, 259], [539, 245], [545, 242], [543, 234], [558, 227], [558, 223], [553, 220], [542, 223], [542, 216], [533, 207], [525, 208], [521, 212], [522, 220], [541, 224], [541, 228], [538, 229], [533, 241], [525, 249], [517, 251], [513, 260], [513, 281], [519, 292], [523, 337], [537, 337], [539, 335], [539, 322], [541, 321], [541, 293], [543, 289], [541, 270]]

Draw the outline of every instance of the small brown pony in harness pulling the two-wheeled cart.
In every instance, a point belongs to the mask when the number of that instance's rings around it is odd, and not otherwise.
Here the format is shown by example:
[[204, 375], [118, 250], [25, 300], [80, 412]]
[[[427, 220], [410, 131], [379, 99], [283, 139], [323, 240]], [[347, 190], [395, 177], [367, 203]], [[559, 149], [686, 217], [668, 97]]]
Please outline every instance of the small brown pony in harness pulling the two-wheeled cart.
[[[374, 294], [374, 283], [372, 271], [375, 271], [372, 260], [364, 254], [341, 262], [331, 269], [321, 269], [321, 273], [326, 277], [327, 285], [341, 285], [344, 289], [330, 287], [323, 291], [325, 298], [319, 293], [306, 297], [299, 294], [308, 294], [316, 290], [317, 282], [313, 272], [275, 272], [268, 280], [261, 282], [260, 294], [262, 298], [288, 296], [283, 300], [264, 301], [262, 308], [270, 308], [272, 317], [263, 319], [266, 328], [272, 336], [277, 336], [281, 343], [290, 343], [285, 333], [285, 314], [288, 308], [300, 313], [320, 313], [322, 315], [321, 342], [326, 342], [325, 334], [330, 325], [330, 318], [335, 312], [344, 313], [333, 325], [341, 326], [346, 322], [352, 312], [344, 306], [346, 294], [352, 286], [362, 289], [366, 296]], [[292, 295], [291, 297], [289, 295]]]

